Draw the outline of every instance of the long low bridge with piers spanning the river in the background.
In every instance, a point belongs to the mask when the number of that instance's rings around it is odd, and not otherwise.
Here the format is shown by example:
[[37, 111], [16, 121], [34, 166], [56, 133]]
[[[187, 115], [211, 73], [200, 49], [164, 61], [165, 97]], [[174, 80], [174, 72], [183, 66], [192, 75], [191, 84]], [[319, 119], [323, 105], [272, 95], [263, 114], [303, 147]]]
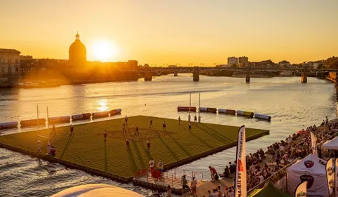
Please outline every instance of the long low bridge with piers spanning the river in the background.
[[173, 73], [174, 76], [178, 76], [178, 73], [192, 73], [193, 81], [199, 81], [200, 72], [206, 72], [209, 74], [215, 74], [216, 72], [229, 71], [229, 72], [243, 72], [245, 74], [245, 81], [250, 82], [250, 74], [257, 72], [300, 72], [302, 73], [302, 83], [307, 82], [307, 76], [309, 73], [328, 74], [329, 72], [338, 72], [338, 69], [308, 69], [302, 68], [231, 68], [231, 67], [148, 67], [139, 69], [137, 72], [144, 75], [144, 81], [151, 81], [153, 75], [161, 75], [163, 73]]

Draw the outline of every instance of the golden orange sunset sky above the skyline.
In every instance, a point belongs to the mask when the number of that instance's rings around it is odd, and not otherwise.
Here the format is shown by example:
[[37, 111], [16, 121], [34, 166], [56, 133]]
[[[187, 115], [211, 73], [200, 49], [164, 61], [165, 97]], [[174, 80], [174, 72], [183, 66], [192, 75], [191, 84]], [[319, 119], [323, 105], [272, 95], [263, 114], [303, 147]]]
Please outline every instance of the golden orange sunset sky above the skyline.
[[227, 64], [229, 56], [292, 63], [338, 55], [337, 0], [2, 0], [0, 48], [68, 59], [79, 31], [88, 60]]

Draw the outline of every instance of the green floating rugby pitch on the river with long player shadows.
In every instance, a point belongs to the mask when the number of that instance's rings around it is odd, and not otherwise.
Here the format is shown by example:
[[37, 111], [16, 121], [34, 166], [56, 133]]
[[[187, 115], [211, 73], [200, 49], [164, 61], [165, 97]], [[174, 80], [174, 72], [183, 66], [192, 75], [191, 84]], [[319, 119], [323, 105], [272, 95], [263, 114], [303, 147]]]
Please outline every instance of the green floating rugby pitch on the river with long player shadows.
[[[190, 133], [187, 121], [179, 124], [177, 120], [152, 117], [153, 125], [149, 126], [149, 120], [149, 116], [129, 117], [126, 134], [121, 127], [124, 118], [74, 125], [73, 135], [70, 135], [69, 126], [56, 128], [55, 133], [50, 128], [50, 141], [56, 147], [55, 156], [46, 155], [48, 139], [38, 137], [37, 130], [1, 135], [0, 147], [119, 182], [131, 182], [137, 172], [149, 168], [151, 158], [156, 163], [162, 161], [167, 170], [236, 146], [238, 127], [193, 123]], [[166, 130], [163, 130], [163, 121]], [[135, 124], [139, 135], [135, 135]], [[106, 142], [104, 130], [107, 130]], [[246, 131], [248, 140], [269, 134], [269, 130], [247, 128]], [[48, 136], [46, 129], [39, 133]], [[128, 151], [126, 138], [130, 140]], [[41, 141], [40, 153], [37, 151], [38, 139]], [[151, 142], [150, 153], [147, 153], [147, 140]]]

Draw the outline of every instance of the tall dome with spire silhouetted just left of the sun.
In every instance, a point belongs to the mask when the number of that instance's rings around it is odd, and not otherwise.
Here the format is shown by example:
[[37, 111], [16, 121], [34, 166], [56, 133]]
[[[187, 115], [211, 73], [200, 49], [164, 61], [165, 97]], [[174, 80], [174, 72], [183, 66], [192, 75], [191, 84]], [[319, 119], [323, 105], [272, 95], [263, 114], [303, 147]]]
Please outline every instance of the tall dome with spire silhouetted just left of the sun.
[[74, 66], [81, 66], [87, 62], [86, 46], [80, 41], [79, 33], [75, 36], [75, 41], [69, 46], [69, 63]]

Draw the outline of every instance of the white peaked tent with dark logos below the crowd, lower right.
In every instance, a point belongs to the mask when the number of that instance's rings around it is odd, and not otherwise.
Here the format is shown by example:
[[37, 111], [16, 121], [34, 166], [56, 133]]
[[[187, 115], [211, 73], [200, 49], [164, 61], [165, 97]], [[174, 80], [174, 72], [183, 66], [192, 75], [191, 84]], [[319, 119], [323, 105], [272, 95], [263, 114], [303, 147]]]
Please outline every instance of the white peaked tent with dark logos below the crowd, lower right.
[[309, 196], [328, 196], [325, 163], [321, 158], [309, 154], [287, 170], [288, 193], [295, 193], [297, 185], [307, 180]]

